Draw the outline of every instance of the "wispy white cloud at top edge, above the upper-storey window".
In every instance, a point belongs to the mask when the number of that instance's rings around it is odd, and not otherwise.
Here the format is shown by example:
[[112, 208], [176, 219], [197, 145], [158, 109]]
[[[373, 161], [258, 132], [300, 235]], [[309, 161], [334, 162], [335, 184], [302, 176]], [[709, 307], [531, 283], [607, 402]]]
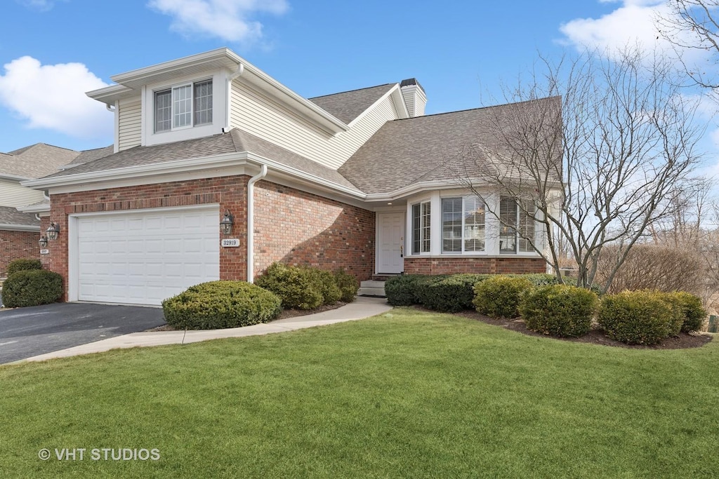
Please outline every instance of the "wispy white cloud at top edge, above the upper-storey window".
[[228, 42], [252, 42], [262, 37], [255, 13], [283, 14], [285, 0], [150, 0], [150, 8], [173, 18], [170, 28], [183, 34], [205, 34]]

